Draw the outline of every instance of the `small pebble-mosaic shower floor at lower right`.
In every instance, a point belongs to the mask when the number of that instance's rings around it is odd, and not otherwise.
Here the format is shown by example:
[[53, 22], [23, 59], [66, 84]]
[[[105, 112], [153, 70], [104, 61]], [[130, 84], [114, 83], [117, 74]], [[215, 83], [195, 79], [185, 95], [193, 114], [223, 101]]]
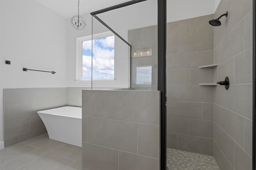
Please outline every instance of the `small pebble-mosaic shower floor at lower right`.
[[169, 170], [220, 170], [213, 156], [167, 148]]

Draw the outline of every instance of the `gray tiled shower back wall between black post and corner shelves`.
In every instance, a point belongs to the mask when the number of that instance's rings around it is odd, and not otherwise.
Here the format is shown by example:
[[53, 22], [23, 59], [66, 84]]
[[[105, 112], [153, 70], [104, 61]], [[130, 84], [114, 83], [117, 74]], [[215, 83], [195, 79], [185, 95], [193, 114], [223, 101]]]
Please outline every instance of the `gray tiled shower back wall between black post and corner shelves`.
[[[213, 155], [214, 16], [167, 23], [167, 147]], [[173, 50], [174, 49], [174, 50]]]

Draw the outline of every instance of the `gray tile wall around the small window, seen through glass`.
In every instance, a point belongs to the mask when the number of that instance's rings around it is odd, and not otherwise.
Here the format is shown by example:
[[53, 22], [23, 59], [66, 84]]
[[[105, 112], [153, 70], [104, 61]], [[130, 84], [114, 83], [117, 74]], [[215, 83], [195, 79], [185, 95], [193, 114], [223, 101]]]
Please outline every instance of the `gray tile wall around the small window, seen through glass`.
[[[131, 48], [131, 88], [157, 90], [157, 25], [132, 29], [128, 31], [128, 42]], [[177, 41], [172, 41], [172, 47], [168, 50], [177, 51]], [[134, 50], [152, 48], [152, 56], [136, 57]], [[136, 66], [152, 66], [152, 84], [136, 84]]]

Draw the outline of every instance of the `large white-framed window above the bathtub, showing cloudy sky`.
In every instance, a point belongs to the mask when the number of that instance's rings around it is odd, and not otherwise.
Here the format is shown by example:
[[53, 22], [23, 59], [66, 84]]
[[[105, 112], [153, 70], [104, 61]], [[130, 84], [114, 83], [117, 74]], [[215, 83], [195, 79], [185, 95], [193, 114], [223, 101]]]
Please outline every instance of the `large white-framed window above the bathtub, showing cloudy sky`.
[[114, 80], [114, 34], [100, 33], [93, 36], [93, 41], [91, 39], [91, 36], [77, 39], [76, 80]]

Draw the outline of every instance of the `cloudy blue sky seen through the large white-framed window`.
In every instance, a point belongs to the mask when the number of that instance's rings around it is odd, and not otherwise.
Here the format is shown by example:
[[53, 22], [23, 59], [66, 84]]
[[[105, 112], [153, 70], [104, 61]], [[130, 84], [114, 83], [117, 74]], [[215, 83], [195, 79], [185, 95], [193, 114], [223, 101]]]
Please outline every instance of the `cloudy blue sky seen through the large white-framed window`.
[[[94, 80], [111, 79], [114, 80], [114, 36], [104, 37], [93, 40], [93, 57], [92, 41], [84, 41], [82, 48], [83, 67], [82, 79], [90, 80], [91, 74]], [[92, 63], [93, 60], [93, 63]], [[92, 69], [93, 65], [93, 69]]]

